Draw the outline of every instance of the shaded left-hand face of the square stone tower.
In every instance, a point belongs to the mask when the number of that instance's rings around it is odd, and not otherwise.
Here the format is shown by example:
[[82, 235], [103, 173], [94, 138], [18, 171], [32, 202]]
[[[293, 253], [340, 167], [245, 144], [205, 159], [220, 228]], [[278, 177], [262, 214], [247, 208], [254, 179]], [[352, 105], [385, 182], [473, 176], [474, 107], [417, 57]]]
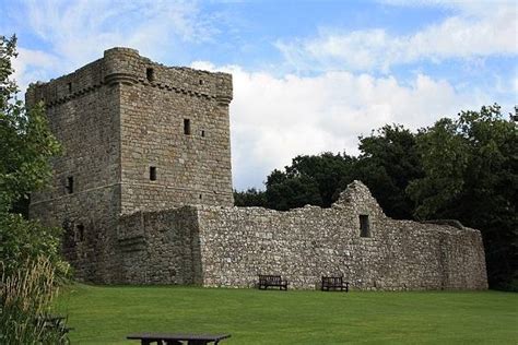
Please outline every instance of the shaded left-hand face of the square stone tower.
[[[66, 230], [63, 251], [79, 278], [115, 282], [115, 237], [120, 210], [118, 85], [103, 82], [97, 60], [72, 74], [33, 84], [27, 106], [44, 100], [51, 131], [63, 147], [50, 187], [31, 195], [31, 217]], [[73, 190], [67, 186], [73, 179]]]

